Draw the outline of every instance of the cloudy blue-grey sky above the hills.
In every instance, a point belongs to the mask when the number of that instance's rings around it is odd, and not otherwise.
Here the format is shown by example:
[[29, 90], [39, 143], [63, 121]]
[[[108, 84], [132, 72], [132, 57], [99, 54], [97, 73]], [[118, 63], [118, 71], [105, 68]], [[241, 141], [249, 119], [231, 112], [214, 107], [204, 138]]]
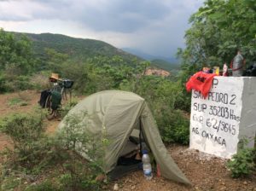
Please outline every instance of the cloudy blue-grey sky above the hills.
[[5, 31], [61, 33], [173, 57], [204, 0], [0, 0]]

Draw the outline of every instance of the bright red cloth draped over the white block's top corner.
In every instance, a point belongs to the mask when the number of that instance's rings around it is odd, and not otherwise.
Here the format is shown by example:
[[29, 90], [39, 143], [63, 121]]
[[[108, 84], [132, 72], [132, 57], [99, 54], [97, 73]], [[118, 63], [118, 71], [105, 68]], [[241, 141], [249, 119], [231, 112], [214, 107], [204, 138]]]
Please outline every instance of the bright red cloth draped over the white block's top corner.
[[196, 72], [186, 84], [187, 91], [191, 89], [201, 91], [201, 95], [206, 98], [211, 90], [214, 76], [216, 76], [215, 73]]

